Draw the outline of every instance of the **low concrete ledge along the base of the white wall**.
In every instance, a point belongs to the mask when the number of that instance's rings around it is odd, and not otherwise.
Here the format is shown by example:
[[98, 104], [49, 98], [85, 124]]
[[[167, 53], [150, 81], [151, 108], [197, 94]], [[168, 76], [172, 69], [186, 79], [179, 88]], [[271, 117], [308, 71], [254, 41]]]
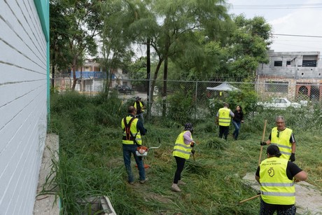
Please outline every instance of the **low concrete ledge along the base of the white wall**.
[[[41, 162], [41, 169], [39, 172], [37, 195], [43, 190], [46, 177], [50, 174], [52, 166], [52, 158], [58, 160], [59, 139], [56, 134], [47, 134], [45, 141], [45, 149], [43, 151], [43, 160]], [[52, 174], [50, 178], [54, 177]], [[50, 187], [45, 187], [50, 190]], [[39, 195], [36, 197], [34, 204], [34, 215], [59, 215], [59, 199], [55, 204], [55, 195]]]

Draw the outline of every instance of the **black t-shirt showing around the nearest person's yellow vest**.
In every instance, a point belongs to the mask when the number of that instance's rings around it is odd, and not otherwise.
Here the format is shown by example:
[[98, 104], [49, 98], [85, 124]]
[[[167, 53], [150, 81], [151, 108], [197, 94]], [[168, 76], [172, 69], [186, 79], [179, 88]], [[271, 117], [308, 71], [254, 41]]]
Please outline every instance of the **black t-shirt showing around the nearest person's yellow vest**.
[[[288, 179], [292, 180], [295, 174], [301, 172], [302, 169], [295, 165], [295, 163], [288, 161], [287, 167], [286, 167], [286, 175]], [[256, 176], [260, 176], [260, 166], [257, 167]], [[264, 202], [264, 201], [263, 201]], [[293, 204], [268, 204], [264, 202], [265, 208], [266, 209], [288, 209], [293, 206]]]

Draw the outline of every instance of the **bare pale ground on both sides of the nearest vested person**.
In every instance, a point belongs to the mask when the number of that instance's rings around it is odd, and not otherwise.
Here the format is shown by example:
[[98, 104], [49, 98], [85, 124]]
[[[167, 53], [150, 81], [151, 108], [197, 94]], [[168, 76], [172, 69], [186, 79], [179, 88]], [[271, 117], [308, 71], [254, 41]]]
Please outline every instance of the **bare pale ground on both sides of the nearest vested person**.
[[[258, 182], [255, 180], [255, 172], [247, 173], [244, 176], [246, 185], [251, 186], [256, 191], [260, 190]], [[322, 214], [322, 191], [318, 190], [315, 186], [301, 181], [295, 183], [295, 206], [296, 214], [310, 214], [320, 215]]]

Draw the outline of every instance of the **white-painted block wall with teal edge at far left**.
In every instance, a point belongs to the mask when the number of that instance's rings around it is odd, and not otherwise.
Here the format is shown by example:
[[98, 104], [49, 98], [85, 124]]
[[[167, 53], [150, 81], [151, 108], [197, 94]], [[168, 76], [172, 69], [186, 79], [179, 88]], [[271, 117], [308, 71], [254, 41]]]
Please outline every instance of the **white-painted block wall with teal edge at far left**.
[[32, 214], [49, 113], [49, 0], [0, 1], [0, 214]]

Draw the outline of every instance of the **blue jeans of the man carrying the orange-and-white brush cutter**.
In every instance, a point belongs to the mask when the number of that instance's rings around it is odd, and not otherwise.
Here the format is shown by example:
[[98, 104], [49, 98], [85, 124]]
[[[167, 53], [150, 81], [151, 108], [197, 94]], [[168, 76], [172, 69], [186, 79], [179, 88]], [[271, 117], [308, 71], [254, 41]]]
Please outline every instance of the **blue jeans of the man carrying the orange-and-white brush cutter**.
[[144, 181], [146, 179], [146, 170], [144, 169], [143, 159], [141, 156], [137, 156], [135, 151], [137, 151], [137, 144], [123, 144], [123, 159], [127, 172], [127, 181], [129, 181], [129, 183], [134, 182], [134, 176], [131, 168], [131, 154], [134, 155], [135, 162], [137, 162], [140, 181]]

